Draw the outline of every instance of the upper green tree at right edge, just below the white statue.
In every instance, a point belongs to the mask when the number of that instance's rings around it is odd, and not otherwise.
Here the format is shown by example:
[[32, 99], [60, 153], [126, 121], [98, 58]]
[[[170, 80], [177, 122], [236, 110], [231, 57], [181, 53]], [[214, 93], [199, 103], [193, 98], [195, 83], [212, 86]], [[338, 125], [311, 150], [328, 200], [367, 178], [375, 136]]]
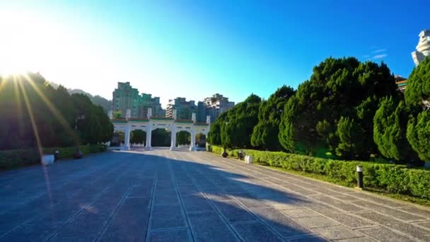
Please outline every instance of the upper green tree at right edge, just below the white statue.
[[405, 100], [409, 106], [422, 106], [430, 98], [430, 57], [426, 57], [407, 79]]

